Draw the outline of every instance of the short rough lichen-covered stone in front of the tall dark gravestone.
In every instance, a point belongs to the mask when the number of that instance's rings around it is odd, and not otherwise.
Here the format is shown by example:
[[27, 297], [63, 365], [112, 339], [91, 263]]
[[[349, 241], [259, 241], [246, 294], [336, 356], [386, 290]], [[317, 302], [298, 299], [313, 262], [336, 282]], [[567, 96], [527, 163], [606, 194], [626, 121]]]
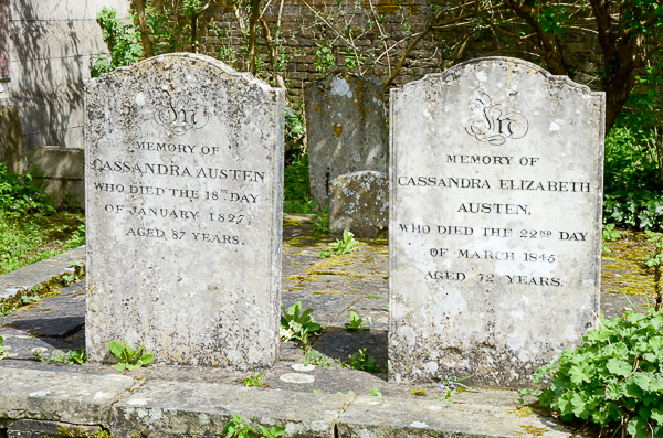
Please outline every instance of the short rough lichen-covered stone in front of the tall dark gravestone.
[[370, 170], [347, 173], [332, 181], [329, 228], [348, 229], [357, 238], [385, 238], [389, 229], [389, 178]]

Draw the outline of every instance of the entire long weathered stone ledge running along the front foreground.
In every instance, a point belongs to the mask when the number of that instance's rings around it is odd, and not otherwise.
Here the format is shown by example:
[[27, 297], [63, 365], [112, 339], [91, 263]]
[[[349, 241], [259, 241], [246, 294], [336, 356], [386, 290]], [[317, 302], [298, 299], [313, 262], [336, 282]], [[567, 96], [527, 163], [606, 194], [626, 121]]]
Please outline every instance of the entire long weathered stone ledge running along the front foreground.
[[285, 437], [575, 436], [545, 413], [519, 416], [507, 405], [495, 405], [491, 393], [485, 403], [481, 397], [474, 403], [350, 397], [214, 383], [145, 382], [112, 370], [112, 374], [93, 375], [85, 365], [59, 368], [0, 367], [0, 428], [7, 428], [9, 436], [18, 436], [13, 428], [21, 423], [15, 420], [33, 420], [33, 428], [54, 427], [43, 421], [101, 426], [117, 437], [141, 431], [150, 438], [212, 437], [232, 414], [253, 426], [285, 426]]

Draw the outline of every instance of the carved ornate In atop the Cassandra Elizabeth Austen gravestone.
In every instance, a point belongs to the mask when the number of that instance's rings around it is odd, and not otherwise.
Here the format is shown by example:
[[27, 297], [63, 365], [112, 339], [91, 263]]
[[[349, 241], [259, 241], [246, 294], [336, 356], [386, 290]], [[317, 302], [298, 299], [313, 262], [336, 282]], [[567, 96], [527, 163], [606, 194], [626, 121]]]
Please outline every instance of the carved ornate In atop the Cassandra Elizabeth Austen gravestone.
[[525, 137], [529, 129], [525, 116], [515, 108], [493, 105], [493, 99], [485, 93], [473, 99], [470, 107], [476, 117], [467, 120], [465, 130], [478, 141], [499, 146], [504, 145], [507, 138]]

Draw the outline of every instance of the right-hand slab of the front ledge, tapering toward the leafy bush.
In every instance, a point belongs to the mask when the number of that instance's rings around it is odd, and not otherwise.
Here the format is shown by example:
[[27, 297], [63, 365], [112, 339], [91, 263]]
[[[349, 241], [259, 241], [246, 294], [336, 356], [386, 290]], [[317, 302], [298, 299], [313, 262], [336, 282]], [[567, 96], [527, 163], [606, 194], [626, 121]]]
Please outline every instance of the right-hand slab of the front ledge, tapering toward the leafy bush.
[[538, 414], [520, 417], [508, 409], [482, 404], [360, 396], [341, 415], [338, 437], [577, 436], [551, 417]]

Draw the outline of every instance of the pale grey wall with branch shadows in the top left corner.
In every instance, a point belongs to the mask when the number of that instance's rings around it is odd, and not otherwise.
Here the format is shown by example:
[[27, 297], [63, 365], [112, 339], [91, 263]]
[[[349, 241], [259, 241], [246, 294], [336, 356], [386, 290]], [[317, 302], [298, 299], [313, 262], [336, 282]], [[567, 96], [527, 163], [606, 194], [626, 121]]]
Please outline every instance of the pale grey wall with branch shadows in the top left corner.
[[90, 56], [106, 49], [96, 23], [104, 6], [124, 18], [129, 0], [0, 0], [0, 76], [9, 55], [9, 81], [0, 83], [0, 161], [11, 170], [35, 148], [83, 146], [83, 81]]

